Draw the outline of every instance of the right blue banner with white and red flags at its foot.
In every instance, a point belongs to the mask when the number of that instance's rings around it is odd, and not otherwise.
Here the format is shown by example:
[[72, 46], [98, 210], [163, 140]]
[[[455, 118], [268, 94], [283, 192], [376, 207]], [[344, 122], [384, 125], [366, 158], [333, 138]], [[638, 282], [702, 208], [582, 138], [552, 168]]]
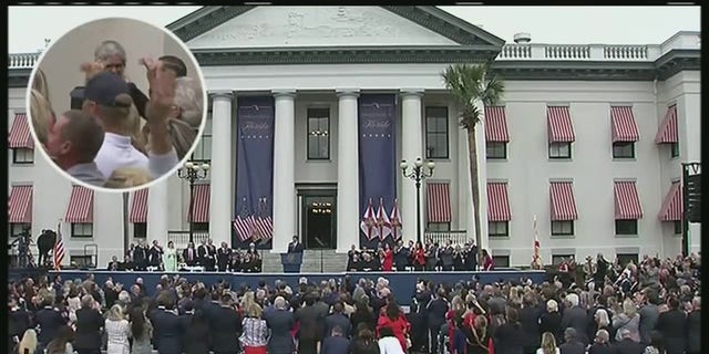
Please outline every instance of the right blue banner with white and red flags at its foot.
[[397, 96], [362, 94], [358, 112], [360, 247], [371, 249], [380, 242], [393, 242], [387, 229], [399, 173]]

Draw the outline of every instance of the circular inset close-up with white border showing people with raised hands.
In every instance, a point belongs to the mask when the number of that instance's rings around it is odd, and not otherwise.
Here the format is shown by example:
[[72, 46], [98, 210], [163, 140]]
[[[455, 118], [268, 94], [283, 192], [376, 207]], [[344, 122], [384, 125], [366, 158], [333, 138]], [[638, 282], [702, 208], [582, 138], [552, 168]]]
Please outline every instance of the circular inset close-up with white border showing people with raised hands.
[[204, 129], [207, 93], [187, 46], [126, 18], [84, 23], [48, 48], [28, 88], [30, 131], [53, 166], [102, 191], [174, 174]]

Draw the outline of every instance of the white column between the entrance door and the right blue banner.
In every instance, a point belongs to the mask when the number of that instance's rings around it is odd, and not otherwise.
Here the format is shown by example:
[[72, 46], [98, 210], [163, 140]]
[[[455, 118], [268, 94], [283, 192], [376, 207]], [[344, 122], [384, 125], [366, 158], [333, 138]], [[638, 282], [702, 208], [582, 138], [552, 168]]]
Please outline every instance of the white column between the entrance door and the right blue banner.
[[359, 248], [359, 90], [338, 90], [337, 251]]

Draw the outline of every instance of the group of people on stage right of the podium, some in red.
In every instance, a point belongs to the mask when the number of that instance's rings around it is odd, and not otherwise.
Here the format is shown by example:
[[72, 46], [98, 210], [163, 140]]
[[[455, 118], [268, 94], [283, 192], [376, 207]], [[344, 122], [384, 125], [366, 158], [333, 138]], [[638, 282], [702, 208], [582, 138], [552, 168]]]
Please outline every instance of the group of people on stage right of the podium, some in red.
[[357, 249], [352, 244], [347, 256], [348, 271], [490, 271], [495, 268], [487, 250], [479, 254], [474, 242], [461, 246], [453, 244], [452, 240], [444, 244], [432, 239], [425, 243], [409, 241], [408, 244], [399, 240], [393, 246], [379, 243], [377, 249]]

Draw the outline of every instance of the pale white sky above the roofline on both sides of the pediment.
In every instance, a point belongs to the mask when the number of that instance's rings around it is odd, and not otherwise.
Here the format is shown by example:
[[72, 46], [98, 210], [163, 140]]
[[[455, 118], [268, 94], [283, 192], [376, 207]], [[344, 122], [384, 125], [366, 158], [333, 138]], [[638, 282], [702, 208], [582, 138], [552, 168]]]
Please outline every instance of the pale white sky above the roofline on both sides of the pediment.
[[[100, 18], [127, 17], [166, 25], [199, 7], [10, 7], [10, 53], [33, 53]], [[666, 7], [441, 7], [511, 43], [518, 32], [553, 44], [660, 44], [679, 31], [700, 31], [700, 8]]]

